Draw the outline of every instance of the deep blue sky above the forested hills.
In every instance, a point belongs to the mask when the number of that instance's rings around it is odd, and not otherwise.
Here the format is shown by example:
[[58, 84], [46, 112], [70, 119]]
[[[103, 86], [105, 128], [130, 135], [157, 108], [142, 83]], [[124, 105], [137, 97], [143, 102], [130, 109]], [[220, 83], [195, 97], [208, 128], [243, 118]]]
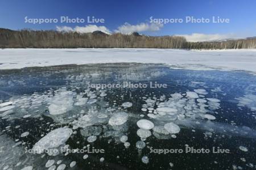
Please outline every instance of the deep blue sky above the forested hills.
[[[38, 0], [9, 0], [0, 1], [0, 27], [10, 29], [56, 29], [56, 26], [64, 26], [72, 30], [84, 30], [85, 23], [25, 23], [28, 18], [57, 18], [68, 16], [69, 18], [84, 18], [94, 16], [105, 19], [104, 23], [94, 23], [97, 27], [113, 32], [121, 32], [123, 28], [127, 33], [138, 31], [152, 36], [160, 35], [186, 35], [200, 33], [203, 39], [211, 37], [232, 38], [256, 36], [256, 1], [144, 1], [144, 0], [109, 0], [109, 1], [38, 1]], [[195, 18], [209, 18], [210, 23], [150, 23], [153, 18], [181, 18], [193, 16]], [[212, 16], [230, 19], [230, 23], [212, 23]], [[129, 24], [125, 24], [129, 23]], [[93, 25], [94, 25], [93, 24]], [[153, 25], [152, 25], [153, 24]], [[79, 28], [75, 29], [78, 26]], [[98, 28], [102, 26], [101, 28]], [[122, 27], [123, 26], [123, 27]], [[65, 27], [65, 28], [66, 28]], [[122, 30], [123, 30], [122, 29]], [[63, 29], [62, 29], [63, 30]], [[86, 31], [90, 28], [85, 28]]]

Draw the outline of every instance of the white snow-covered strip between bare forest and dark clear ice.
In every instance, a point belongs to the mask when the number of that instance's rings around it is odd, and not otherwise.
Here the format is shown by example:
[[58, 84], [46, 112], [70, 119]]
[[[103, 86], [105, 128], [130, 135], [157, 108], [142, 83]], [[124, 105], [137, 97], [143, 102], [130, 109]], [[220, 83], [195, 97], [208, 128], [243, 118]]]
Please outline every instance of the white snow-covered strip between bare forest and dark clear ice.
[[172, 69], [256, 73], [256, 49], [0, 49], [0, 69], [128, 62], [162, 63]]

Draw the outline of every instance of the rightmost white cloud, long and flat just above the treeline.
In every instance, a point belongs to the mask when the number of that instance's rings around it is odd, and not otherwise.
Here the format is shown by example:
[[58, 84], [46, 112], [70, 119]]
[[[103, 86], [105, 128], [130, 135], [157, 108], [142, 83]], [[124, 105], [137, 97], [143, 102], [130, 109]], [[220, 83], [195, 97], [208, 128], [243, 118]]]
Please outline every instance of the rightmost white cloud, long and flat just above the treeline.
[[204, 34], [204, 33], [192, 33], [191, 35], [175, 35], [183, 36], [190, 42], [200, 42], [200, 41], [218, 41], [225, 39], [237, 39], [236, 35], [233, 33], [229, 34]]

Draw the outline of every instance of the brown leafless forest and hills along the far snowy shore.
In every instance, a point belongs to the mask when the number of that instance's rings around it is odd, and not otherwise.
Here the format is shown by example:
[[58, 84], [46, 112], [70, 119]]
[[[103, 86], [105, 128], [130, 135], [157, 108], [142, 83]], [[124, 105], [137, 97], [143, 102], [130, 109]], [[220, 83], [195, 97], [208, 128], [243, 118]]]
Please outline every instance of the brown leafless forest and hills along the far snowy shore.
[[188, 42], [180, 36], [145, 36], [101, 31], [93, 33], [57, 31], [13, 31], [0, 28], [0, 48], [172, 48], [172, 49], [256, 49], [256, 37], [216, 42]]

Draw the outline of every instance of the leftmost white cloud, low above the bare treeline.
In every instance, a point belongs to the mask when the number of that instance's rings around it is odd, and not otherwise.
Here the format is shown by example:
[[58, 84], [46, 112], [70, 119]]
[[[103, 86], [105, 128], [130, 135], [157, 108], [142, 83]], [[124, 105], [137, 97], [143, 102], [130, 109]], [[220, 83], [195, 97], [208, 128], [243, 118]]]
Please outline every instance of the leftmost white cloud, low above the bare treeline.
[[75, 28], [71, 27], [56, 27], [57, 31], [64, 31], [64, 32], [79, 32], [79, 33], [88, 33], [88, 32], [94, 32], [94, 31], [101, 31], [106, 34], [111, 34], [111, 31], [109, 31], [108, 28], [105, 26], [97, 26], [97, 25], [85, 25], [85, 27], [79, 27], [76, 26]]

